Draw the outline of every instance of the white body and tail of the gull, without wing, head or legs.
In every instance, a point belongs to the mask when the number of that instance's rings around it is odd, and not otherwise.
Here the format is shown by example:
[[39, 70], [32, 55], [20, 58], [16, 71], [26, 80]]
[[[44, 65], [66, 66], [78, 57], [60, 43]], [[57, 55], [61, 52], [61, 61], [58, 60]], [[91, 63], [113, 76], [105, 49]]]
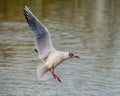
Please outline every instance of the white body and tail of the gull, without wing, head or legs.
[[69, 52], [54, 51], [50, 53], [48, 58], [43, 61], [44, 65], [42, 66], [42, 68], [37, 69], [38, 78], [41, 78], [46, 72], [48, 72], [49, 69], [52, 69], [54, 71], [54, 69], [59, 64], [69, 58]]

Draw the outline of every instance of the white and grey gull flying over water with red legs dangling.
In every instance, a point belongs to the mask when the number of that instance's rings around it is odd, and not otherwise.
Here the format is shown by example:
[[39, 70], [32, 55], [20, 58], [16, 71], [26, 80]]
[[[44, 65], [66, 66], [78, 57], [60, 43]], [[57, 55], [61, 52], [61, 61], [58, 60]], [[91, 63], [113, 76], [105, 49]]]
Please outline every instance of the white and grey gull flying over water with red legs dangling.
[[79, 58], [71, 52], [62, 52], [54, 48], [51, 35], [45, 25], [25, 5], [24, 15], [29, 27], [34, 32], [35, 51], [38, 53], [43, 65], [37, 67], [37, 76], [41, 79], [47, 72], [50, 72], [54, 79], [61, 83], [60, 77], [54, 69], [63, 61], [70, 58]]

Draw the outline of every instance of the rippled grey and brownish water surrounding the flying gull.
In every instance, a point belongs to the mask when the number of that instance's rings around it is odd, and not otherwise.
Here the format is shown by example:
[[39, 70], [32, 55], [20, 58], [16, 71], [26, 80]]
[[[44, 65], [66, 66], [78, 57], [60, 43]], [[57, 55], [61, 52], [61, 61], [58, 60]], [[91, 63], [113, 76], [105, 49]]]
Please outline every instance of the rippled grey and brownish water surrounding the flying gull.
[[[41, 61], [33, 50], [24, 4], [48, 27], [56, 49], [81, 57], [55, 70], [62, 84], [37, 80]], [[1, 0], [0, 96], [119, 96], [119, 4], [119, 0]]]

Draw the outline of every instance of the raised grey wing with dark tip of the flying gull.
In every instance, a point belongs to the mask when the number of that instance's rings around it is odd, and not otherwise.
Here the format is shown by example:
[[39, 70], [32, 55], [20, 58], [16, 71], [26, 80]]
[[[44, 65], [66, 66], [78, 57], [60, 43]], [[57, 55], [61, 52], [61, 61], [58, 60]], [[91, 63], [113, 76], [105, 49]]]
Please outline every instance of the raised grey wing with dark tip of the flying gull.
[[50, 52], [55, 50], [51, 42], [50, 33], [27, 6], [24, 6], [24, 15], [28, 25], [35, 33], [35, 48], [39, 53], [40, 59], [44, 60]]

